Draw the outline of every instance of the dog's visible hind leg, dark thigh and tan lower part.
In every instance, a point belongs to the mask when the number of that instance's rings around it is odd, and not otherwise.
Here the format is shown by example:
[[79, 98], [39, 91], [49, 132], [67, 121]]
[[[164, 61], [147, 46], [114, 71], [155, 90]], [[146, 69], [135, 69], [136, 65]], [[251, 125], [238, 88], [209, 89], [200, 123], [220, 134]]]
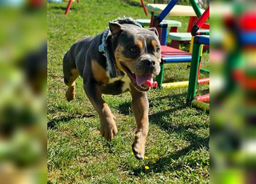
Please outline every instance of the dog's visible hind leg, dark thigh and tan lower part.
[[66, 91], [67, 101], [71, 101], [75, 98], [75, 79], [78, 78], [79, 74], [75, 67], [75, 61], [70, 61], [68, 53], [63, 58], [63, 74], [64, 83], [68, 86]]

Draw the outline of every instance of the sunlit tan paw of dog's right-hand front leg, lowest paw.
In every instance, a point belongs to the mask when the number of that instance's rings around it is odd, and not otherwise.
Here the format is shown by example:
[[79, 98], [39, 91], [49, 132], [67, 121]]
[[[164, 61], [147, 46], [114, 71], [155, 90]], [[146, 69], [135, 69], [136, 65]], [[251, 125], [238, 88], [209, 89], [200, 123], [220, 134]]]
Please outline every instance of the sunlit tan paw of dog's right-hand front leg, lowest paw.
[[144, 159], [145, 143], [146, 143], [146, 137], [142, 136], [141, 133], [137, 133], [135, 140], [132, 144], [132, 152], [136, 159], [139, 159], [139, 160]]

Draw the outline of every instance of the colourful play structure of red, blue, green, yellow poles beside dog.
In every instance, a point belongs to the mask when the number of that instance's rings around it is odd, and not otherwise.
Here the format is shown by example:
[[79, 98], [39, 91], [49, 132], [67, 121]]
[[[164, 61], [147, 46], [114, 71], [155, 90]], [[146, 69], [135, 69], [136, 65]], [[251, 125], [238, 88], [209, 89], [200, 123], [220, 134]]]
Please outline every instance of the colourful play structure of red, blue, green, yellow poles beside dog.
[[[200, 9], [198, 8], [194, 0], [190, 0], [190, 3], [197, 15], [198, 20], [193, 25], [191, 29], [192, 41], [190, 45], [190, 52], [181, 51], [177, 48], [168, 47], [166, 45], [167, 40], [167, 24], [162, 23], [162, 20], [167, 16], [169, 11], [173, 9], [176, 3], [179, 0], [172, 0], [166, 8], [159, 14], [159, 16], [151, 17], [151, 25], [155, 27], [160, 27], [161, 29], [161, 50], [162, 50], [162, 62], [161, 62], [161, 72], [156, 76], [156, 81], [160, 87], [165, 87], [167, 89], [175, 87], [188, 87], [188, 96], [187, 102], [191, 103], [193, 106], [203, 110], [209, 110], [209, 94], [201, 95], [196, 97], [196, 87], [203, 83], [209, 83], [209, 78], [199, 78], [200, 72], [207, 72], [203, 68], [200, 68], [201, 65], [201, 54], [202, 54], [202, 45], [209, 46], [209, 30], [200, 30], [202, 26], [205, 27], [205, 21], [209, 17], [209, 6], [201, 14]], [[206, 24], [206, 27], [209, 27]], [[163, 72], [165, 63], [190, 63], [190, 74], [189, 81], [182, 82], [172, 82], [172, 83], [163, 83]]]

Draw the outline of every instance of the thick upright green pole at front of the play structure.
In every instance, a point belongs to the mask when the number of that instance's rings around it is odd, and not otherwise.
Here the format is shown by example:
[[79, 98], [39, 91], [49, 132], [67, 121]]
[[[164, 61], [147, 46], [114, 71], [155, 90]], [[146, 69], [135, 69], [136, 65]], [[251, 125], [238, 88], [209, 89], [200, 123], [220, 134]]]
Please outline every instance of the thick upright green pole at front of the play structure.
[[194, 42], [193, 51], [192, 51], [192, 60], [189, 72], [189, 87], [188, 87], [188, 96], [187, 102], [191, 102], [196, 96], [196, 86], [197, 86], [197, 72], [200, 62], [200, 51], [201, 44]]

